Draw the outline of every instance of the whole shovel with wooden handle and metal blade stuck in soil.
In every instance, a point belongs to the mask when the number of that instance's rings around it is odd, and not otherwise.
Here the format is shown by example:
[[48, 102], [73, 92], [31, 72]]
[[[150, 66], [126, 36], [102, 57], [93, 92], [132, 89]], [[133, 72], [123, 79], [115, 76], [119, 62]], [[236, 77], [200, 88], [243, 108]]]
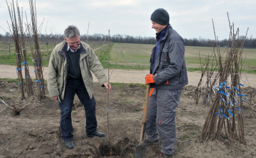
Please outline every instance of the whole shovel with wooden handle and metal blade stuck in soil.
[[149, 90], [150, 84], [146, 85], [146, 96], [145, 96], [145, 106], [144, 106], [144, 113], [142, 118], [142, 132], [139, 138], [139, 145], [136, 146], [135, 151], [135, 158], [143, 158], [146, 152], [146, 143], [144, 143], [144, 135], [146, 130], [146, 114], [147, 114], [147, 107], [149, 103]]

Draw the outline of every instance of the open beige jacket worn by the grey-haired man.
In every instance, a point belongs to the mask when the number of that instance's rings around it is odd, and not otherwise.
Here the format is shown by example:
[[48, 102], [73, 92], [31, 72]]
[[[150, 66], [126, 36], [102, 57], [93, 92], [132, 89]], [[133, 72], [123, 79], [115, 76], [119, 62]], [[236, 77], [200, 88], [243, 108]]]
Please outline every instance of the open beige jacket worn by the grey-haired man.
[[[85, 88], [92, 98], [93, 96], [93, 74], [99, 80], [100, 84], [107, 83], [107, 77], [105, 71], [98, 60], [95, 52], [92, 48], [86, 43], [81, 42], [81, 52], [80, 52], [80, 69], [82, 74], [82, 79], [85, 83]], [[65, 94], [65, 84], [67, 81], [67, 45], [65, 45], [65, 40], [62, 43], [59, 43], [53, 49], [53, 52], [50, 55], [50, 61], [48, 65], [48, 91], [51, 97], [60, 96], [61, 100], [64, 99]]]

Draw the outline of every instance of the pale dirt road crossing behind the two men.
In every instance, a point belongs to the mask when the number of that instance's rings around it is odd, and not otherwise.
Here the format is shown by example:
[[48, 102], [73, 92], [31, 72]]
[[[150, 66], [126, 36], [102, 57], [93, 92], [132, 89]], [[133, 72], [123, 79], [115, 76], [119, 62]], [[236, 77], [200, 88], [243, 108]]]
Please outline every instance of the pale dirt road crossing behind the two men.
[[[33, 67], [29, 70], [32, 79], [36, 79]], [[48, 67], [44, 67], [44, 79], [47, 79]], [[105, 70], [107, 72], [107, 70]], [[127, 70], [127, 69], [113, 69], [111, 70], [110, 82], [116, 83], [139, 83], [144, 84], [144, 77], [149, 74], [149, 70]], [[0, 64], [0, 79], [16, 79], [16, 67]], [[97, 81], [93, 75], [94, 81]], [[188, 85], [197, 86], [201, 79], [201, 72], [188, 72]], [[245, 86], [256, 87], [256, 74], [242, 74], [241, 84]]]

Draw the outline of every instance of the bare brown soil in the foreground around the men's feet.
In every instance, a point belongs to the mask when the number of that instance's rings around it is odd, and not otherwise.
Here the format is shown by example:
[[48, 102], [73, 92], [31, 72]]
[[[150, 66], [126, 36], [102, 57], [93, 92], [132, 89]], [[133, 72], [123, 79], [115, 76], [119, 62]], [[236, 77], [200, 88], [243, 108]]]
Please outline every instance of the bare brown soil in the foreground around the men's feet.
[[[244, 109], [247, 145], [230, 142], [224, 132], [220, 140], [201, 142], [201, 128], [210, 107], [194, 105], [194, 90], [194, 86], [184, 88], [177, 108], [175, 157], [256, 157], [256, 121], [249, 107]], [[0, 79], [0, 97], [20, 111], [14, 115], [11, 108], [0, 103], [0, 157], [132, 158], [139, 144], [145, 91], [146, 87], [137, 84], [112, 85], [107, 99], [105, 89], [95, 83], [97, 130], [105, 132], [105, 138], [86, 136], [85, 111], [75, 96], [72, 112], [75, 149], [66, 149], [61, 140], [58, 102], [49, 98], [47, 91], [46, 98], [41, 100], [36, 95], [21, 100], [18, 84]], [[146, 157], [155, 157], [160, 150], [161, 143], [148, 145]]]

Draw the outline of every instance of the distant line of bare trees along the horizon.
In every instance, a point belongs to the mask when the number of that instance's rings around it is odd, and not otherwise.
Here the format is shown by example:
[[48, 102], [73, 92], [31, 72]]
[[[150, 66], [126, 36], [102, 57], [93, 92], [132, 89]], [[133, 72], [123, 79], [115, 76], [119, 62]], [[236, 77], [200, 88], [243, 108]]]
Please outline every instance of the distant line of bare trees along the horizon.
[[[26, 38], [26, 35], [25, 35]], [[54, 43], [58, 43], [60, 41], [63, 41], [64, 35], [61, 34], [55, 34], [55, 35], [38, 35], [39, 40], [44, 41], [54, 41]], [[80, 39], [82, 41], [90, 43], [107, 43], [108, 42], [108, 35], [103, 35], [99, 33], [95, 33], [94, 35], [80, 35]], [[0, 34], [0, 40], [7, 40], [11, 39], [11, 35], [9, 33], [6, 33], [5, 35]], [[244, 41], [245, 40], [245, 41]], [[156, 44], [156, 38], [155, 37], [142, 37], [142, 36], [131, 36], [131, 35], [111, 35], [110, 41], [113, 43], [138, 43], [138, 44]], [[246, 38], [245, 36], [240, 36], [238, 43], [245, 42], [244, 47], [245, 48], [256, 48], [256, 38]], [[186, 39], [184, 38], [184, 43], [186, 46], [199, 46], [199, 47], [213, 47], [213, 46], [219, 46], [219, 47], [228, 47], [232, 43], [229, 42], [228, 39], [225, 40], [219, 40], [218, 43], [215, 42], [215, 40], [210, 40], [206, 38], [193, 38], [193, 39]]]

